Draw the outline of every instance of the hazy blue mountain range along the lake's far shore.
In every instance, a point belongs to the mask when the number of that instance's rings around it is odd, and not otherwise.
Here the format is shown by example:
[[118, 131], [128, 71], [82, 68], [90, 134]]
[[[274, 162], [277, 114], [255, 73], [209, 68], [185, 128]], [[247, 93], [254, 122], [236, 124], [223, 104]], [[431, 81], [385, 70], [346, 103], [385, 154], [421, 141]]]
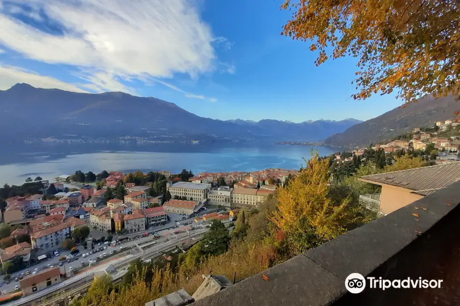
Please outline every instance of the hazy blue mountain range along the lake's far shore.
[[16, 84], [0, 91], [0, 139], [143, 139], [149, 141], [319, 141], [361, 121], [217, 120], [154, 97], [76, 93]]

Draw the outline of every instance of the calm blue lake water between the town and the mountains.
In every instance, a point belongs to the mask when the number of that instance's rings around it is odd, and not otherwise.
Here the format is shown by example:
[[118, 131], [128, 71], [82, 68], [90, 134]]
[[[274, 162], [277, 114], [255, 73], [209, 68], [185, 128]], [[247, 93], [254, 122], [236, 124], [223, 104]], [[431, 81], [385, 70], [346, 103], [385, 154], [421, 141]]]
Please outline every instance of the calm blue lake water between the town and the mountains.
[[[0, 150], [0, 184], [21, 184], [28, 176], [51, 180], [76, 170], [143, 172], [192, 169], [257, 171], [266, 168], [298, 169], [310, 146], [275, 144], [21, 144]], [[320, 156], [329, 147], [313, 147]]]

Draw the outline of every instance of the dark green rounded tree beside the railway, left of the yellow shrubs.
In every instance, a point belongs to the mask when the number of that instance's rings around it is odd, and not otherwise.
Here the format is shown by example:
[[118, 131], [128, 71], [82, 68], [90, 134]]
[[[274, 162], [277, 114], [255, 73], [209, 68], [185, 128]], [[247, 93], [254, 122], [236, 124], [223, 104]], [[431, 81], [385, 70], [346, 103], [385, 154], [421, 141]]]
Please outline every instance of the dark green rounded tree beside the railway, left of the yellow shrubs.
[[204, 235], [202, 252], [206, 255], [219, 255], [227, 250], [230, 237], [220, 220], [212, 220], [210, 230]]

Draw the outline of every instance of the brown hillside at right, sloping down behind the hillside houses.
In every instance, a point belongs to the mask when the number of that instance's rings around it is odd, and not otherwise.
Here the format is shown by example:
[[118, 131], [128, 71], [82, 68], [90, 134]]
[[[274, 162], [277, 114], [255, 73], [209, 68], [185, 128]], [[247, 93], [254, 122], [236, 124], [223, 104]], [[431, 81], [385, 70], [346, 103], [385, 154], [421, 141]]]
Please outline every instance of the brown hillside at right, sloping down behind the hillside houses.
[[436, 121], [452, 119], [459, 110], [460, 102], [452, 95], [437, 99], [427, 95], [418, 99], [417, 103], [395, 108], [376, 118], [355, 124], [343, 133], [328, 137], [325, 143], [346, 148], [364, 147], [410, 132], [414, 127], [432, 126]]

